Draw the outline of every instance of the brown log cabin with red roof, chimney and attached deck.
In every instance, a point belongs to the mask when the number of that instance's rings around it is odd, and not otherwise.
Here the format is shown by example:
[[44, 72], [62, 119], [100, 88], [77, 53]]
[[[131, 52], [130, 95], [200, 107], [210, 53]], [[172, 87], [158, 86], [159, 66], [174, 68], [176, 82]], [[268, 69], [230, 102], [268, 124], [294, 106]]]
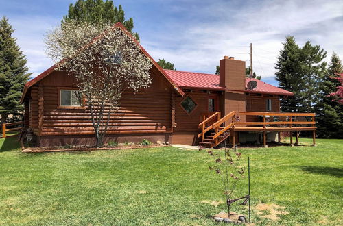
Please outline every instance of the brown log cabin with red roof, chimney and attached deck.
[[[115, 26], [128, 34], [121, 23]], [[110, 115], [105, 143], [147, 139], [217, 147], [224, 140], [231, 145], [263, 140], [266, 147], [282, 131], [290, 132], [291, 143], [296, 132], [298, 143], [302, 130], [314, 131], [315, 138], [314, 114], [280, 112], [280, 100], [293, 93], [246, 78], [244, 61], [224, 56], [219, 75], [163, 70], [139, 47], [153, 64], [152, 84], [123, 94], [119, 110]], [[248, 88], [250, 81], [254, 88]], [[75, 90], [75, 78], [56, 66], [25, 84], [24, 127], [33, 131], [38, 146], [95, 144], [91, 114], [75, 100]]]

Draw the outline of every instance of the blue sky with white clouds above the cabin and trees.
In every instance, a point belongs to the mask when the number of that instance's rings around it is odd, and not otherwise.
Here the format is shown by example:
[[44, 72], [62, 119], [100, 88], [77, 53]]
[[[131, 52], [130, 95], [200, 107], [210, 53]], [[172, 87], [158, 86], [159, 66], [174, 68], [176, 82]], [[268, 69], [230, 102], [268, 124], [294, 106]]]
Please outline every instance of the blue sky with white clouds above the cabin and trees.
[[[75, 0], [0, 0], [17, 44], [36, 77], [53, 62], [45, 54], [44, 36], [58, 26]], [[126, 18], [134, 19], [141, 45], [154, 60], [164, 58], [179, 71], [215, 73], [224, 55], [250, 65], [262, 80], [274, 80], [276, 58], [286, 36], [298, 45], [307, 40], [343, 59], [343, 1], [282, 0], [118, 0]]]

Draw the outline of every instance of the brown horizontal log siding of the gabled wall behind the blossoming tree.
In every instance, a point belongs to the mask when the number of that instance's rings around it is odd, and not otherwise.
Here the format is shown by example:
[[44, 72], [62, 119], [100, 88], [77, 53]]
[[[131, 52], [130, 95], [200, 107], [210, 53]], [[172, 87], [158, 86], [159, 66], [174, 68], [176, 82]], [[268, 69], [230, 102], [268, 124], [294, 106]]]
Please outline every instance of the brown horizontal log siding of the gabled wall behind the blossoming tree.
[[[150, 88], [137, 93], [123, 93], [119, 110], [110, 116], [108, 134], [156, 134], [171, 131], [171, 88], [153, 70], [152, 77]], [[91, 113], [87, 108], [58, 109], [58, 87], [75, 87], [73, 77], [56, 71], [42, 82], [42, 136], [94, 134]], [[38, 99], [38, 90], [35, 98]], [[104, 119], [107, 119], [107, 112], [108, 108], [104, 112]]]

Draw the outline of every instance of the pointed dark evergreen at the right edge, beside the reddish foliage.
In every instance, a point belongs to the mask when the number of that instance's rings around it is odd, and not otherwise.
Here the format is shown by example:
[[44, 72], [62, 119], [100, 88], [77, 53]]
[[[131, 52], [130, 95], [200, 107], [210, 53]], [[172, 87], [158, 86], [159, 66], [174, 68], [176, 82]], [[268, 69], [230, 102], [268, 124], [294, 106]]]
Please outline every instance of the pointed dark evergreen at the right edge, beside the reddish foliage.
[[334, 101], [330, 94], [335, 92], [340, 82], [336, 79], [343, 73], [343, 66], [336, 53], [331, 55], [327, 74], [320, 84], [318, 103], [316, 104], [316, 119], [318, 136], [322, 138], [343, 138], [343, 105]]

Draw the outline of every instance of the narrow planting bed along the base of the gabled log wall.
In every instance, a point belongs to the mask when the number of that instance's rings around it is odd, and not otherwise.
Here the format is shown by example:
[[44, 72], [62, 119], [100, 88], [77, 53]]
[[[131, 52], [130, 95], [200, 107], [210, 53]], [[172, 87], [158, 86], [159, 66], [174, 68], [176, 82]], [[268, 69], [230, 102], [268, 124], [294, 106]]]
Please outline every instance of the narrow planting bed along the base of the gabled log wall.
[[42, 147], [27, 147], [22, 149], [23, 153], [42, 153], [42, 152], [61, 152], [61, 151], [101, 151], [101, 150], [120, 150], [120, 149], [146, 149], [152, 147], [167, 147], [170, 145], [149, 145], [149, 146], [125, 146], [125, 147], [75, 147], [70, 149], [63, 148], [42, 148]]

